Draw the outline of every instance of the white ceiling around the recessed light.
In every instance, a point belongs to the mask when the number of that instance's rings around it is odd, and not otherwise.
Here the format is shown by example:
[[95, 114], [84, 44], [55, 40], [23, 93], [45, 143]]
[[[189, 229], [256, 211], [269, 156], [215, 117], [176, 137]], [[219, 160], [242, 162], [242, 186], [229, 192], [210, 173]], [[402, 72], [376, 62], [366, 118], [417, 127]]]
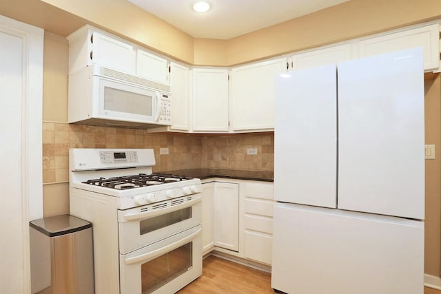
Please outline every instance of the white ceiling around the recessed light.
[[348, 0], [206, 0], [208, 12], [194, 12], [198, 0], [128, 0], [196, 38], [231, 39]]

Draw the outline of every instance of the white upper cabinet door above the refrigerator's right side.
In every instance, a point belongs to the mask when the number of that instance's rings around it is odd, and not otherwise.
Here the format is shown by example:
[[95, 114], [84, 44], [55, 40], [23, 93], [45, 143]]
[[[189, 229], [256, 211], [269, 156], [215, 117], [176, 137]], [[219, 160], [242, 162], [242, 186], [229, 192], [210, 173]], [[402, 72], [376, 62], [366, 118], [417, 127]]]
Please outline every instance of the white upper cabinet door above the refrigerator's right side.
[[439, 34], [440, 26], [437, 23], [362, 40], [359, 42], [360, 57], [422, 47], [424, 70], [433, 70], [440, 67]]

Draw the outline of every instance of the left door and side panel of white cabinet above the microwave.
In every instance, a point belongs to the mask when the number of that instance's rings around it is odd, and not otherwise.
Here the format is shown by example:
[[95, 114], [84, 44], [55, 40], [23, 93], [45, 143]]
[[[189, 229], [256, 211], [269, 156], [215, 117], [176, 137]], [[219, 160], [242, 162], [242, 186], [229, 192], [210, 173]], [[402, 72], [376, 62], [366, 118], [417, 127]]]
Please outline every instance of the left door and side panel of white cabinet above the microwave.
[[92, 64], [135, 74], [136, 48], [123, 39], [85, 25], [70, 34], [68, 41], [70, 74]]

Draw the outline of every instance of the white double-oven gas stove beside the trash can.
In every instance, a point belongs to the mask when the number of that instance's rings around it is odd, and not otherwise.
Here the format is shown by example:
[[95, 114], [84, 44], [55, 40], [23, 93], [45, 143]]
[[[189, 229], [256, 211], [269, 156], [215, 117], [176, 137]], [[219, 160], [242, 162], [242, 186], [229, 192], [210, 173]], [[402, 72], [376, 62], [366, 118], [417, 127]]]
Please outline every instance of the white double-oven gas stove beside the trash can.
[[153, 149], [70, 149], [70, 214], [92, 223], [95, 293], [175, 293], [202, 274], [201, 180]]

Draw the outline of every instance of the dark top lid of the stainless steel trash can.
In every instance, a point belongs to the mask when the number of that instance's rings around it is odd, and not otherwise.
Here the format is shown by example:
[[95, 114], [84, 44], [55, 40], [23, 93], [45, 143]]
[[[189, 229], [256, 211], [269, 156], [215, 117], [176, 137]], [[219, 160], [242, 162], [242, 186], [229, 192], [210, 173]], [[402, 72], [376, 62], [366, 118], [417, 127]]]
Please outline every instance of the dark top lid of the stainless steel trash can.
[[51, 216], [50, 218], [40, 218], [39, 220], [31, 220], [29, 225], [30, 227], [45, 235], [48, 235], [49, 237], [66, 235], [92, 227], [90, 222], [81, 220], [81, 218], [76, 218], [68, 214]]

